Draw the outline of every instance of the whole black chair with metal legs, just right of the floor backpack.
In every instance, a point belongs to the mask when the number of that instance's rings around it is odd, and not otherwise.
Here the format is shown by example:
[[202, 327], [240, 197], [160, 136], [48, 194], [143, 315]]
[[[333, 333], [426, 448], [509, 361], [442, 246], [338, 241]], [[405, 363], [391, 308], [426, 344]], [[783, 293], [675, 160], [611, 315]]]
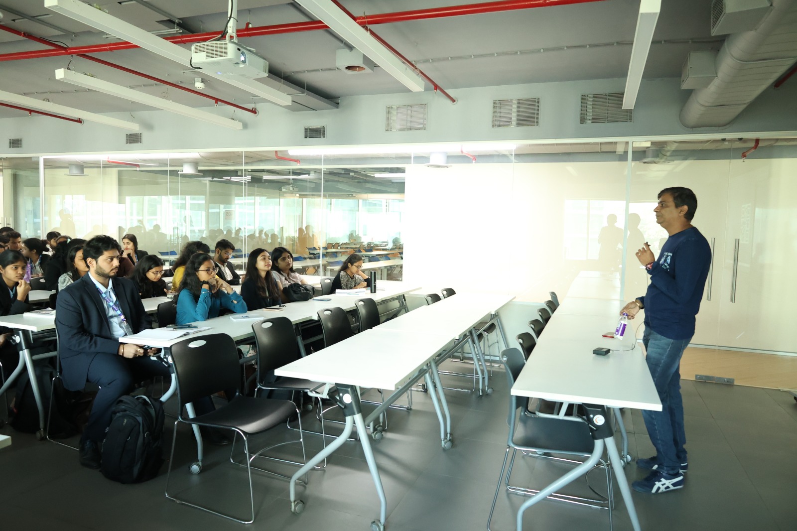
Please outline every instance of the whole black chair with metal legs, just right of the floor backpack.
[[[198, 415], [190, 419], [183, 415], [186, 404], [192, 403], [205, 396], [213, 395], [215, 392], [224, 389], [238, 387], [240, 368], [238, 365], [238, 352], [235, 348], [235, 342], [232, 337], [221, 333], [188, 338], [172, 345], [171, 358], [175, 368], [175, 378], [177, 379], [179, 414], [177, 420], [175, 420], [175, 430], [171, 440], [171, 456], [169, 458], [169, 470], [166, 478], [166, 497], [178, 503], [190, 505], [191, 507], [238, 521], [241, 524], [251, 524], [254, 521], [252, 469], [262, 470], [252, 466], [253, 459], [256, 457], [268, 458], [262, 455], [265, 450], [269, 450], [269, 448], [273, 448], [274, 446], [281, 446], [282, 444], [295, 443], [296, 441], [278, 443], [252, 454], [249, 453], [249, 435], [268, 431], [286, 422], [292, 415], [299, 416], [299, 410], [290, 400], [252, 398], [238, 394], [235, 395], [229, 403], [218, 407], [215, 411], [210, 411], [210, 413]], [[214, 511], [208, 507], [203, 507], [202, 505], [191, 503], [184, 498], [177, 498], [169, 494], [171, 468], [175, 462], [177, 423], [186, 423], [219, 430], [232, 430], [234, 432], [234, 439], [232, 450], [230, 450], [230, 461], [233, 461], [235, 441], [238, 439], [238, 435], [241, 436], [244, 441], [246, 462], [245, 464], [233, 462], [239, 466], [245, 466], [246, 472], [249, 475], [251, 515], [248, 521]], [[299, 426], [301, 428], [301, 419], [299, 419]], [[302, 455], [304, 457], [304, 439], [300, 438], [299, 442], [301, 443]], [[279, 459], [279, 461], [288, 462], [284, 459]], [[304, 462], [306, 462], [306, 459], [304, 459]], [[301, 465], [303, 463], [293, 464]], [[195, 462], [191, 466], [191, 471], [194, 474], [198, 474], [200, 470], [202, 470], [201, 462]], [[269, 470], [263, 471], [289, 479], [289, 476], [277, 474]]]

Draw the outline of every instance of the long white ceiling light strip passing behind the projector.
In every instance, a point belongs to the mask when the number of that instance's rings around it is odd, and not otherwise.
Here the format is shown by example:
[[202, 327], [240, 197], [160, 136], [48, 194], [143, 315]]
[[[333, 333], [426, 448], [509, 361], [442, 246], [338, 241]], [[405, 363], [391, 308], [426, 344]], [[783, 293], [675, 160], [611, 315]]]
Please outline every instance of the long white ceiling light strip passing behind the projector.
[[[92, 28], [104, 31], [105, 33], [116, 35], [116, 37], [120, 37], [123, 41], [132, 42], [152, 53], [157, 53], [161, 57], [166, 57], [184, 66], [190, 66], [190, 50], [153, 35], [146, 30], [142, 30], [138, 26], [133, 26], [128, 22], [124, 22], [102, 10], [95, 9], [88, 4], [78, 2], [78, 0], [45, 0], [45, 7], [65, 17], [77, 20], [77, 22], [82, 22], [86, 26], [92, 26]], [[246, 92], [264, 97], [266, 100], [273, 101], [276, 104], [290, 105], [292, 103], [291, 96], [288, 96], [285, 92], [280, 92], [276, 88], [268, 87], [246, 77], [220, 76], [217, 73], [204, 69], [202, 70], [202, 75], [214, 77], [219, 81], [224, 81], [228, 85], [242, 88]]]

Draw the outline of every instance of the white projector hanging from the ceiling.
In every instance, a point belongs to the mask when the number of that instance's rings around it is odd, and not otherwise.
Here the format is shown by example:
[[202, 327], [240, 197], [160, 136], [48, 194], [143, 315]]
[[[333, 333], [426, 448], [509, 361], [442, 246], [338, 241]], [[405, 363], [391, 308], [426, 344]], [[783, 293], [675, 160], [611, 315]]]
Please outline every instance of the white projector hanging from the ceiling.
[[198, 42], [191, 46], [191, 65], [219, 76], [250, 79], [269, 75], [269, 61], [236, 41]]

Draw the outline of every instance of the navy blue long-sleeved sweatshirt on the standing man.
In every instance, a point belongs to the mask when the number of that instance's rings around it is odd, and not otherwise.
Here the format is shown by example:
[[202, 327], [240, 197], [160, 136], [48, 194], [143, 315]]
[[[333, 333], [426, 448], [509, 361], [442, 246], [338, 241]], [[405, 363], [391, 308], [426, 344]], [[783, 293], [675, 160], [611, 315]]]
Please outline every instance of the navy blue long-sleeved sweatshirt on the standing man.
[[650, 273], [645, 297], [645, 326], [673, 340], [695, 333], [695, 316], [711, 266], [711, 247], [695, 227], [673, 234]]

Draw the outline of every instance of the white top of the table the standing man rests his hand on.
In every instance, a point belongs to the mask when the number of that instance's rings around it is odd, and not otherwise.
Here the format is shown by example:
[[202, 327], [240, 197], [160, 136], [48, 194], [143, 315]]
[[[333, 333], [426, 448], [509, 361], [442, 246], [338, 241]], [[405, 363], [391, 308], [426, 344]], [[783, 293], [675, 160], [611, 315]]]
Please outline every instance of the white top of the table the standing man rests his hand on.
[[[571, 301], [573, 306], [578, 301]], [[603, 337], [618, 315], [559, 313], [548, 322], [529, 356], [512, 395], [607, 407], [662, 411], [662, 403], [645, 363], [642, 346], [634, 338], [638, 323], [630, 321], [622, 340]], [[596, 356], [594, 348], [614, 348]]]

